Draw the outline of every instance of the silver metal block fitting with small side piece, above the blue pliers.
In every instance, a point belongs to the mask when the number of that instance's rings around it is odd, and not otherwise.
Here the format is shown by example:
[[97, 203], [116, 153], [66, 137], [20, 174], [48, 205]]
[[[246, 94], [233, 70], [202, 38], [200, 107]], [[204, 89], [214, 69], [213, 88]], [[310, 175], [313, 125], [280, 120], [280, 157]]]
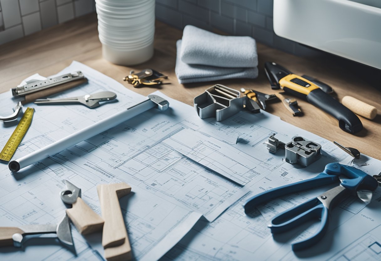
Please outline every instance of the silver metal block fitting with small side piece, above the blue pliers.
[[300, 136], [295, 136], [292, 138], [291, 142], [285, 144], [276, 139], [274, 135], [275, 134], [272, 134], [269, 137], [269, 140], [265, 142], [267, 150], [271, 153], [275, 153], [280, 148], [284, 148], [285, 161], [288, 163], [297, 163], [301, 166], [307, 167], [316, 160], [320, 159], [322, 156], [320, 153], [322, 146], [318, 143], [312, 142], [311, 140], [306, 140]]

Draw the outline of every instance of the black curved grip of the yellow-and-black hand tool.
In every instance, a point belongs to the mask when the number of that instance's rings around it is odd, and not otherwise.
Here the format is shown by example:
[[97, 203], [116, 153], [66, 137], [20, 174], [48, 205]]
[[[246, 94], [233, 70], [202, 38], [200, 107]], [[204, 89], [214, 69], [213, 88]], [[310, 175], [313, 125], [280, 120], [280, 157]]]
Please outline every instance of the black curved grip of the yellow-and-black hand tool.
[[359, 117], [321, 89], [308, 93], [307, 101], [338, 119], [340, 129], [352, 134], [362, 130]]

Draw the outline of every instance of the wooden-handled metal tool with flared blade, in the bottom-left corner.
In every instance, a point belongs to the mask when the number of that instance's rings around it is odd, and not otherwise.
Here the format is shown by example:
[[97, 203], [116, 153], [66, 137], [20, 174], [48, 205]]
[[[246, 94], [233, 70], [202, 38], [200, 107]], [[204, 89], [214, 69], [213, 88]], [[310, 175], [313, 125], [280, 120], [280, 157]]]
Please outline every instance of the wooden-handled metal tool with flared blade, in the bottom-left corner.
[[26, 235], [57, 234], [57, 238], [69, 249], [72, 249], [73, 238], [69, 218], [65, 214], [58, 224], [24, 225], [19, 227], [0, 227], [0, 246], [14, 245], [22, 247]]

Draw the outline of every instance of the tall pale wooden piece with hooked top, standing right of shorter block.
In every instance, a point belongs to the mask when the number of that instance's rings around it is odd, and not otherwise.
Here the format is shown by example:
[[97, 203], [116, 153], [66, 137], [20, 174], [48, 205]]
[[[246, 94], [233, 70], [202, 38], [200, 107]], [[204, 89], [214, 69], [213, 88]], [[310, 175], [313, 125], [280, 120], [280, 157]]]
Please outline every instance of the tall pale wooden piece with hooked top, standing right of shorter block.
[[119, 205], [119, 198], [131, 192], [131, 186], [122, 182], [97, 186], [104, 219], [102, 246], [108, 261], [128, 260], [131, 246]]

